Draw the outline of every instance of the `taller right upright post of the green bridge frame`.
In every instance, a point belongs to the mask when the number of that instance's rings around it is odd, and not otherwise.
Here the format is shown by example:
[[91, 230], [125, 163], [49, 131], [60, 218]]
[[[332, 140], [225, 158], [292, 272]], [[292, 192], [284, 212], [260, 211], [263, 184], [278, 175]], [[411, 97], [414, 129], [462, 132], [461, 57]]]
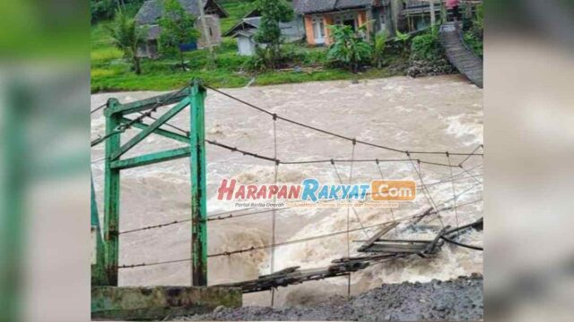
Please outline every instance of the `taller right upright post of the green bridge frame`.
[[207, 285], [207, 180], [205, 169], [205, 89], [195, 81], [191, 91], [191, 251], [192, 286]]

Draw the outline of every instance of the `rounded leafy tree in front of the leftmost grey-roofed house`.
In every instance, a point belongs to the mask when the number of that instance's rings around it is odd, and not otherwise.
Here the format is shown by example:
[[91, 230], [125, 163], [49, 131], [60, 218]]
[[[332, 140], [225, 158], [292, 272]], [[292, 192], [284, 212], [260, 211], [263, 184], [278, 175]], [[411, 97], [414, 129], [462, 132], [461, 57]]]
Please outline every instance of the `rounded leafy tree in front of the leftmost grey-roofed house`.
[[194, 42], [201, 33], [194, 27], [196, 18], [187, 13], [178, 0], [163, 0], [163, 13], [160, 19], [159, 47], [163, 55], [179, 56], [181, 69], [186, 71], [181, 45]]

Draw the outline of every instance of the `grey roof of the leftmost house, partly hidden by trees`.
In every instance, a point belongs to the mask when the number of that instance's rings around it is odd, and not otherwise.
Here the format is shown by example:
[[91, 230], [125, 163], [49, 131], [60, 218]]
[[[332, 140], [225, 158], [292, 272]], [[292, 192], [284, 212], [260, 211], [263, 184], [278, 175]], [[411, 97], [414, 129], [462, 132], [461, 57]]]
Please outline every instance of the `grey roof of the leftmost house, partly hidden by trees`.
[[[179, 4], [186, 10], [187, 13], [193, 14], [198, 17], [199, 12], [199, 2], [198, 0], [178, 0]], [[215, 0], [207, 0], [204, 5], [205, 11], [211, 11], [217, 13], [220, 18], [226, 18], [229, 16], [228, 13], [223, 10], [222, 6], [217, 4]], [[161, 18], [161, 12], [163, 11], [163, 6], [161, 5], [161, 0], [148, 0], [143, 3], [140, 10], [135, 15], [135, 21], [139, 24], [153, 24]]]

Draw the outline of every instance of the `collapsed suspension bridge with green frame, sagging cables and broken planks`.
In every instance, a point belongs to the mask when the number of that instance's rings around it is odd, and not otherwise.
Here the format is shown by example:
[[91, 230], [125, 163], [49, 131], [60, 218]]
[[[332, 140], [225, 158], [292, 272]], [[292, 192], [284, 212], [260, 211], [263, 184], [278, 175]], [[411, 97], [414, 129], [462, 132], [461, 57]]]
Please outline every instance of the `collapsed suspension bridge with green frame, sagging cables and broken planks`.
[[[269, 117], [270, 127], [273, 128], [272, 138], [274, 142], [273, 150], [267, 154], [256, 153], [246, 147], [235, 147], [226, 142], [217, 140], [207, 140], [205, 138], [205, 124], [204, 124], [204, 101], [207, 90], [227, 97], [242, 106], [247, 106], [250, 109], [257, 111], [260, 114], [266, 114]], [[160, 115], [159, 109], [163, 106], [169, 106], [168, 110]], [[189, 129], [183, 129], [170, 123], [170, 120], [177, 114], [189, 108]], [[100, 137], [91, 141], [91, 147], [105, 144], [105, 157], [100, 160], [104, 162], [104, 198], [103, 198], [103, 225], [100, 225], [100, 216], [98, 214], [97, 204], [95, 201], [95, 194], [91, 194], [91, 225], [92, 236], [96, 245], [96, 251], [92, 257], [92, 285], [96, 286], [112, 286], [117, 287], [117, 275], [120, 269], [133, 269], [135, 267], [153, 267], [164, 266], [175, 263], [190, 262], [192, 286], [203, 287], [208, 283], [208, 258], [230, 257], [242, 253], [253, 252], [257, 250], [270, 250], [270, 270], [268, 275], [261, 275], [255, 280], [242, 281], [239, 283], [229, 283], [216, 285], [219, 287], [229, 287], [240, 289], [241, 292], [261, 292], [272, 291], [272, 305], [274, 301], [274, 290], [277, 287], [287, 286], [291, 284], [300, 284], [308, 281], [319, 279], [348, 276], [349, 289], [351, 287], [351, 274], [357, 272], [365, 267], [369, 267], [373, 263], [380, 263], [385, 260], [393, 258], [406, 258], [409, 256], [418, 256], [421, 258], [429, 258], [438, 253], [444, 242], [451, 243], [458, 247], [465, 247], [471, 250], [482, 250], [481, 246], [469, 245], [464, 242], [457, 241], [460, 232], [467, 229], [482, 229], [482, 219], [475, 222], [464, 222], [457, 215], [457, 209], [466, 207], [475, 203], [479, 203], [482, 199], [475, 199], [465, 203], [459, 203], [458, 199], [469, 191], [476, 191], [482, 187], [482, 181], [477, 174], [474, 174], [474, 168], [467, 168], [465, 164], [473, 157], [483, 157], [482, 148], [478, 146], [470, 152], [461, 151], [438, 151], [438, 150], [408, 150], [403, 148], [392, 147], [383, 145], [380, 142], [373, 142], [368, 140], [357, 140], [341, 132], [322, 129], [308, 123], [302, 123], [291, 118], [285, 117], [281, 114], [275, 114], [269, 110], [256, 106], [243, 99], [230, 95], [220, 89], [213, 89], [212, 87], [204, 84], [200, 80], [193, 80], [186, 87], [174, 91], [169, 94], [152, 97], [133, 103], [121, 104], [117, 99], [110, 98], [106, 104], [99, 106], [92, 110], [92, 114], [103, 109], [103, 114], [106, 117], [106, 132]], [[336, 140], [347, 141], [352, 147], [351, 157], [348, 159], [341, 158], [321, 158], [309, 159], [301, 161], [279, 159], [277, 157], [277, 123], [286, 123], [290, 126], [299, 127], [309, 131], [316, 131], [327, 136], [333, 137]], [[122, 134], [125, 134], [128, 129], [139, 129], [135, 136], [126, 140], [122, 144]], [[121, 158], [138, 145], [143, 144], [143, 140], [150, 135], [159, 135], [161, 137], [175, 140], [180, 143], [185, 143], [184, 148], [175, 148], [161, 152], [145, 154], [138, 157]], [[396, 217], [393, 209], [390, 208], [392, 220], [387, 220], [380, 223], [366, 225], [361, 222], [361, 218], [353, 207], [347, 208], [346, 215], [346, 229], [332, 233], [317, 234], [308, 238], [301, 238], [296, 240], [289, 240], [285, 242], [276, 241], [276, 216], [279, 212], [289, 208], [246, 208], [235, 211], [227, 211], [215, 214], [207, 213], [207, 192], [206, 192], [206, 153], [205, 145], [212, 145], [216, 148], [222, 148], [230, 153], [237, 153], [244, 157], [257, 158], [268, 162], [274, 166], [274, 183], [277, 183], [278, 173], [281, 165], [306, 165], [306, 164], [325, 164], [333, 168], [336, 177], [340, 183], [344, 183], [343, 177], [337, 165], [350, 165], [351, 171], [349, 174], [349, 181], [352, 182], [352, 169], [353, 165], [357, 164], [372, 164], [378, 169], [381, 179], [387, 179], [384, 175], [384, 165], [387, 163], [404, 163], [413, 168], [413, 174], [416, 177], [417, 186], [424, 199], [428, 202], [428, 209], [419, 214], [411, 216]], [[355, 148], [359, 145], [378, 148], [390, 153], [396, 154], [394, 158], [374, 158], [374, 159], [359, 159], [355, 157]], [[428, 156], [444, 156], [445, 162], [437, 162], [436, 158], [428, 159]], [[123, 170], [153, 165], [161, 162], [166, 162], [178, 158], [189, 158], [190, 160], [190, 182], [191, 182], [191, 205], [190, 217], [185, 220], [176, 220], [166, 222], [160, 225], [148, 225], [140, 228], [121, 230], [119, 227], [119, 201], [120, 201], [120, 173]], [[455, 162], [455, 159], [459, 161]], [[450, 176], [438, 182], [425, 182], [422, 174], [421, 165], [429, 165], [436, 167], [443, 167], [448, 169]], [[455, 170], [458, 173], [455, 173]], [[472, 180], [475, 184], [465, 190], [456, 191], [455, 182], [462, 180]], [[431, 193], [431, 188], [450, 183], [452, 187], [452, 198], [437, 202]], [[334, 201], [334, 200], [328, 200]], [[454, 211], [457, 216], [457, 226], [450, 227], [444, 225], [441, 214], [448, 211]], [[208, 253], [207, 251], [207, 225], [209, 222], [222, 221], [229, 219], [237, 219], [247, 216], [259, 216], [261, 214], [271, 214], [272, 232], [271, 239], [266, 244], [252, 245], [248, 248], [240, 248], [234, 250], [225, 250], [217, 253]], [[359, 224], [358, 227], [352, 228], [352, 216]], [[431, 221], [439, 221], [440, 229], [435, 233], [435, 237], [431, 240], [397, 240], [388, 239], [386, 235], [391, 230], [413, 229], [418, 225], [422, 225], [422, 220], [426, 220], [428, 224]], [[184, 223], [191, 223], [191, 254], [187, 258], [174, 258], [166, 261], [148, 262], [148, 263], [119, 263], [119, 238], [128, 233], [136, 233], [154, 229], [162, 229], [172, 225], [181, 225]], [[460, 225], [465, 224], [465, 225]], [[375, 231], [375, 233], [370, 233]], [[367, 238], [361, 242], [358, 248], [361, 256], [351, 256], [351, 241], [350, 234], [355, 232], [362, 232]], [[275, 250], [285, 245], [296, 243], [305, 243], [315, 240], [323, 240], [333, 238], [335, 236], [346, 235], [346, 257], [337, 258], [332, 261], [328, 267], [318, 267], [313, 269], [301, 269], [300, 267], [287, 267], [279, 271], [274, 270]], [[93, 304], [92, 304], [93, 308]]]

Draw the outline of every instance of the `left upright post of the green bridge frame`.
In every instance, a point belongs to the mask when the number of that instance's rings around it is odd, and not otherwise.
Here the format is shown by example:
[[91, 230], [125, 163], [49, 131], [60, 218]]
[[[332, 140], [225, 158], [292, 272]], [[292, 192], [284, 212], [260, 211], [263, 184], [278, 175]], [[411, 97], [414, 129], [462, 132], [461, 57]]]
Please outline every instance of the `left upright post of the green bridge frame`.
[[[107, 108], [119, 105], [115, 98], [110, 98]], [[120, 114], [106, 115], [106, 135], [115, 131], [121, 122]], [[106, 140], [106, 163], [104, 182], [104, 243], [105, 243], [105, 269], [108, 277], [107, 284], [117, 286], [117, 258], [119, 251], [119, 169], [111, 166], [111, 156], [117, 151], [120, 144], [120, 135], [112, 135]]]

